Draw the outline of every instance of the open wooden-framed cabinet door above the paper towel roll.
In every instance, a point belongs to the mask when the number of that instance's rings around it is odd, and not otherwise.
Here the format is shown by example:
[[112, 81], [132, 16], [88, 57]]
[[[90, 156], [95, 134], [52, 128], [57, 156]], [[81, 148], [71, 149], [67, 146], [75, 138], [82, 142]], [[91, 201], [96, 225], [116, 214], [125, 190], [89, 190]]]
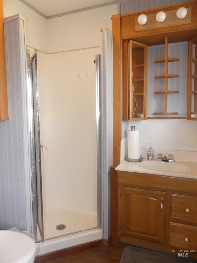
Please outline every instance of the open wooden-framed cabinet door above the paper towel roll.
[[148, 46], [130, 40], [128, 51], [128, 117], [130, 121], [146, 120]]

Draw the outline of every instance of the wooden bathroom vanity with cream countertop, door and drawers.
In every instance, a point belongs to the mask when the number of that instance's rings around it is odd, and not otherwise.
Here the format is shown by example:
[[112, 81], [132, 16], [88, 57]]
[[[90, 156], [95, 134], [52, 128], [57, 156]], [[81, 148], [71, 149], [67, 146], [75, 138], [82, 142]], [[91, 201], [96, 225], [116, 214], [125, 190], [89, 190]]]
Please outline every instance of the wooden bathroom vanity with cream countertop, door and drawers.
[[196, 162], [171, 163], [187, 167], [178, 173], [146, 169], [146, 163], [161, 164], [125, 160], [115, 168], [119, 241], [167, 253], [197, 249]]

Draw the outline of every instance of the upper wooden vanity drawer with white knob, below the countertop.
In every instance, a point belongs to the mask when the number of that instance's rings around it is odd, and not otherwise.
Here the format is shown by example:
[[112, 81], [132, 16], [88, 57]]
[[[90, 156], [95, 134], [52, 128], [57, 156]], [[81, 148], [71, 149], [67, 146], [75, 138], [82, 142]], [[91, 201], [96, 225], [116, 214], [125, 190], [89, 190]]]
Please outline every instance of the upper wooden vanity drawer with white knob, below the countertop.
[[171, 194], [171, 219], [197, 224], [197, 197]]

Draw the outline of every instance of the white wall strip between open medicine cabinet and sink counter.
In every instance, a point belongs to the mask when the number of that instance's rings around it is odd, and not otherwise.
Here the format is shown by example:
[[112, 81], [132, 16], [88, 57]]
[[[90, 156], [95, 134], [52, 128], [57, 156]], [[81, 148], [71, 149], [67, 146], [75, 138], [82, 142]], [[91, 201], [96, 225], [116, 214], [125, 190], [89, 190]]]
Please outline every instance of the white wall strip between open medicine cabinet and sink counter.
[[197, 121], [182, 119], [129, 121], [128, 128], [140, 130], [140, 147], [154, 149], [197, 151]]

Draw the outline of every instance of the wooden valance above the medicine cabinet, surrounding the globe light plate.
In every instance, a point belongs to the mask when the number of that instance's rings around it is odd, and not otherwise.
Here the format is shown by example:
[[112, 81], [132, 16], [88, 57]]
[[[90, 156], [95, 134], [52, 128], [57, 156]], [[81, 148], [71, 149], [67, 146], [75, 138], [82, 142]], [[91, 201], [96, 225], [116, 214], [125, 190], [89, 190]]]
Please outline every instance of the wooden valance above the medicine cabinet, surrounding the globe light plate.
[[[127, 15], [121, 15], [121, 39], [132, 39], [147, 45], [163, 44], [165, 37], [169, 39], [169, 43], [186, 41], [194, 36], [196, 32], [196, 3], [197, 1], [194, 0], [191, 2], [184, 2], [175, 5], [162, 6], [155, 9], [143, 10], [143, 14], [150, 15], [155, 14], [161, 10], [164, 12], [168, 12], [171, 10], [177, 10], [179, 7], [182, 6], [184, 6], [185, 8], [191, 7], [191, 23], [185, 25], [170, 25], [162, 28], [152, 28], [144, 31], [135, 31], [135, 17], [139, 16], [142, 11], [130, 13]], [[179, 21], [179, 23], [180, 22], [183, 21]], [[165, 21], [163, 23], [165, 23]]]

